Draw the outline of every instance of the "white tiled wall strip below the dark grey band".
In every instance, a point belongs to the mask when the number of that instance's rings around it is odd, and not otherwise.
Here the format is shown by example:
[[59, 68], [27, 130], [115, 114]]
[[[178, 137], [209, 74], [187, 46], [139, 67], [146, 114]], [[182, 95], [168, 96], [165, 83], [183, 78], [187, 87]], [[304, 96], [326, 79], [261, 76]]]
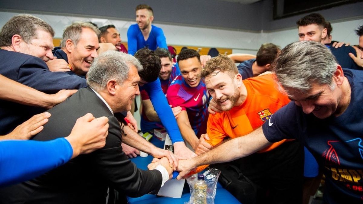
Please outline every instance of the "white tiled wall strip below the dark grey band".
[[[19, 13], [0, 12], [0, 27], [2, 27], [12, 16], [17, 14]], [[56, 32], [56, 38], [61, 38], [63, 29], [74, 21], [91, 21], [98, 26], [114, 24], [121, 33], [121, 39], [123, 41], [127, 41], [127, 29], [131, 24], [135, 23], [134, 21], [86, 18], [78, 16], [57, 16], [45, 14], [33, 15], [48, 22]], [[253, 33], [179, 25], [154, 25], [163, 29], [168, 44], [231, 48], [233, 53], [256, 54], [256, 51], [262, 43], [272, 42], [283, 48], [287, 44], [298, 40], [297, 28], [268, 33], [263, 31]], [[355, 35], [353, 30], [359, 25], [363, 25], [363, 19], [332, 23], [333, 40], [358, 44], [358, 37]]]

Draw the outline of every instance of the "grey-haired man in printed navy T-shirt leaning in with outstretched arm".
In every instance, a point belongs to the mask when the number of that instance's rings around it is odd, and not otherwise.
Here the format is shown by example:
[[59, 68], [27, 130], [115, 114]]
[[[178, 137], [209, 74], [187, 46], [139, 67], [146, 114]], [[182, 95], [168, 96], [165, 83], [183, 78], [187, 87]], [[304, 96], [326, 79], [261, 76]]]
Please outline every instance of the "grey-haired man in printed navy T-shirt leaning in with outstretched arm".
[[325, 167], [324, 203], [362, 203], [362, 71], [343, 72], [323, 44], [302, 41], [281, 50], [272, 72], [292, 101], [250, 134], [179, 161], [180, 177], [200, 164], [234, 160], [272, 142], [297, 139]]

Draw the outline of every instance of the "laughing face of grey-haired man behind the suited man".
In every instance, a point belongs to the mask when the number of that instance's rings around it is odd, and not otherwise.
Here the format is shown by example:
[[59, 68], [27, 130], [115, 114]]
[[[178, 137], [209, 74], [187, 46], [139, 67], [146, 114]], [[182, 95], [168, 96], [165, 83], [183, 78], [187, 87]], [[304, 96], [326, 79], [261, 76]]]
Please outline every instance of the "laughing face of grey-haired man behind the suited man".
[[88, 72], [93, 59], [98, 56], [97, 34], [89, 28], [82, 28], [77, 45], [71, 43], [71, 49], [68, 51], [69, 64], [72, 66], [74, 73], [84, 75]]

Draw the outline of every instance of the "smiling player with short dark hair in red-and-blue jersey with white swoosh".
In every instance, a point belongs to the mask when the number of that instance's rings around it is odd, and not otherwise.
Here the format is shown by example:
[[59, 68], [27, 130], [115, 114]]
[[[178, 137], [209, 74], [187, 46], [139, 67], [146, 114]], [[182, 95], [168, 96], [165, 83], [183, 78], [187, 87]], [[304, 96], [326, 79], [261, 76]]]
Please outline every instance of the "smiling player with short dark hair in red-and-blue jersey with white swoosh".
[[178, 65], [180, 74], [171, 82], [166, 96], [172, 107], [181, 107], [176, 122], [184, 140], [195, 150], [198, 138], [206, 132], [209, 94], [200, 76], [202, 65], [196, 50], [181, 51]]

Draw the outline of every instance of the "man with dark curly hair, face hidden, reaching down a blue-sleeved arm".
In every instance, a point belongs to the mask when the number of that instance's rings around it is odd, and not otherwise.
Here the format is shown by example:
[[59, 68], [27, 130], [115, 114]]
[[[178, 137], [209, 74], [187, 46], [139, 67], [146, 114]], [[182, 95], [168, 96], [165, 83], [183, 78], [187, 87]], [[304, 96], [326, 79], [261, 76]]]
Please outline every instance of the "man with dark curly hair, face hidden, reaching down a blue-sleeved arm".
[[159, 73], [161, 69], [161, 60], [154, 51], [143, 48], [136, 52], [135, 57], [141, 62], [143, 70], [139, 72], [140, 92], [145, 90], [148, 94], [152, 106], [160, 121], [163, 123], [170, 139], [174, 145], [174, 153], [182, 158], [191, 158], [196, 156], [194, 152], [185, 146], [181, 137], [178, 125], [176, 123], [173, 111], [169, 106], [167, 99], [163, 93]]

